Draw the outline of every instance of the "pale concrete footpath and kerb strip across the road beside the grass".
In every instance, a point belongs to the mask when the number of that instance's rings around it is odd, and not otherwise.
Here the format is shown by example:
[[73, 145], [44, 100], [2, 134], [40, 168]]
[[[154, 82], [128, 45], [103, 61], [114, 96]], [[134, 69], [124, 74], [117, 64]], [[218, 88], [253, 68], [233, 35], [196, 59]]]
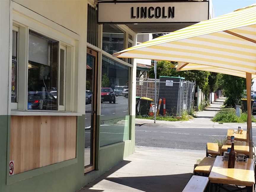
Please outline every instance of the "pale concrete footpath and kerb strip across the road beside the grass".
[[[170, 128], [213, 128], [213, 129], [237, 129], [240, 126], [242, 129], [247, 129], [246, 123], [223, 123], [219, 124], [217, 122], [211, 121], [215, 114], [220, 111], [223, 106], [223, 99], [217, 99], [214, 103], [210, 104], [204, 109], [204, 111], [197, 111], [196, 118], [189, 121], [156, 121], [157, 126], [169, 126]], [[141, 126], [143, 124], [152, 125], [154, 120], [149, 119], [135, 119], [135, 125]], [[252, 123], [252, 127], [256, 127], [256, 123]]]

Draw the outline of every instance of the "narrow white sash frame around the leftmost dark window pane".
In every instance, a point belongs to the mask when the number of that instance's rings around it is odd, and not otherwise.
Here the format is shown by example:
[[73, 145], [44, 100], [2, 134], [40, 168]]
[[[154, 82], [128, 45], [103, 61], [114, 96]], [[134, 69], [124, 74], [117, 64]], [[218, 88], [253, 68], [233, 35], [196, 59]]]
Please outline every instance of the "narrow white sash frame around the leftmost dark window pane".
[[[18, 109], [18, 102], [19, 102], [19, 97], [18, 97], [18, 93], [19, 93], [19, 81], [18, 81], [18, 78], [19, 78], [19, 27], [15, 26], [15, 25], [12, 25], [12, 31], [16, 31], [17, 32], [17, 63], [16, 63], [16, 68], [17, 68], [17, 71], [16, 71], [16, 100], [17, 102], [11, 102], [11, 108], [12, 109]], [[12, 39], [13, 41], [13, 39]], [[11, 86], [12, 87], [12, 86]]]

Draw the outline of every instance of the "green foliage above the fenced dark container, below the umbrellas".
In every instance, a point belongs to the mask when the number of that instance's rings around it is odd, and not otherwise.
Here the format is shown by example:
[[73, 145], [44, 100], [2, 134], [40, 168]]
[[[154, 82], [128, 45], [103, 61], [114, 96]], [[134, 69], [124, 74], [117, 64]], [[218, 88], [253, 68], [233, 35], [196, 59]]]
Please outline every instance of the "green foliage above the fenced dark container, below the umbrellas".
[[[205, 91], [208, 85], [208, 71], [178, 71], [176, 72], [175, 65], [177, 62], [171, 61], [158, 61], [156, 65], [156, 78], [159, 76], [180, 76], [184, 77], [187, 81], [196, 81], [196, 84]], [[149, 78], [155, 78], [154, 66], [148, 70]]]

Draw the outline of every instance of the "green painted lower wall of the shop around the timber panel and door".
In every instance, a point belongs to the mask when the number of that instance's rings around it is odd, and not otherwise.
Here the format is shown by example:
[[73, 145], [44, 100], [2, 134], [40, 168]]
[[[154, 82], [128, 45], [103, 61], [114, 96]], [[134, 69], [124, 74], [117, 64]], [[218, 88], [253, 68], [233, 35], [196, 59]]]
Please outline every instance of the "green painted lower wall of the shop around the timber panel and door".
[[[1, 192], [73, 192], [82, 188], [90, 181], [102, 175], [105, 171], [115, 166], [123, 157], [134, 152], [135, 116], [131, 116], [131, 141], [116, 143], [102, 148], [96, 145], [96, 169], [84, 175], [84, 116], [78, 117], [78, 161], [75, 164], [61, 167], [52, 172], [47, 172], [25, 180], [6, 185], [7, 172], [7, 133], [10, 116], [0, 116], [0, 191]], [[99, 117], [97, 117], [99, 122]], [[97, 131], [97, 130], [96, 130]], [[96, 135], [96, 139], [99, 135]], [[8, 167], [9, 168], [9, 167]], [[8, 176], [9, 177], [9, 176]], [[11, 177], [11, 176], [10, 176]]]

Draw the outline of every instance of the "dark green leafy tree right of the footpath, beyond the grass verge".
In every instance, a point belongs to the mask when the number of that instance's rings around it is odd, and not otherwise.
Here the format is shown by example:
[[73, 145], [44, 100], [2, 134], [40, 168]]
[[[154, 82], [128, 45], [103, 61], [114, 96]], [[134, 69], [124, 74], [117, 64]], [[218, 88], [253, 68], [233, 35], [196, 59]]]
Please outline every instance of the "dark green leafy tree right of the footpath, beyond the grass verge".
[[236, 105], [241, 105], [241, 98], [246, 89], [246, 79], [242, 77], [223, 74], [223, 92], [227, 99], [224, 102], [225, 107], [234, 108]]

